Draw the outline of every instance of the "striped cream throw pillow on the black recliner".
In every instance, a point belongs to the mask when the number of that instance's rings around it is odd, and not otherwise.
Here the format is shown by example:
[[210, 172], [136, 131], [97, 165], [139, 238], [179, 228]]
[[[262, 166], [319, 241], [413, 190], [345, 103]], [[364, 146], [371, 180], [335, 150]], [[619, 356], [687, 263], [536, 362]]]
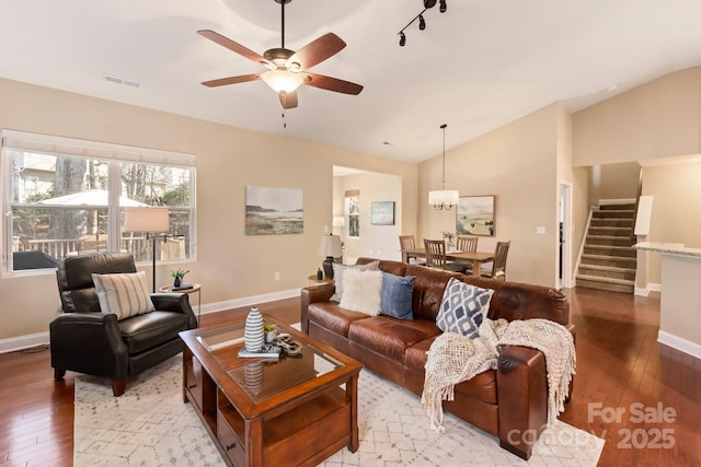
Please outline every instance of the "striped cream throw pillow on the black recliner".
[[117, 315], [117, 319], [142, 315], [153, 311], [146, 272], [120, 275], [92, 275], [97, 290], [100, 310], [104, 315]]

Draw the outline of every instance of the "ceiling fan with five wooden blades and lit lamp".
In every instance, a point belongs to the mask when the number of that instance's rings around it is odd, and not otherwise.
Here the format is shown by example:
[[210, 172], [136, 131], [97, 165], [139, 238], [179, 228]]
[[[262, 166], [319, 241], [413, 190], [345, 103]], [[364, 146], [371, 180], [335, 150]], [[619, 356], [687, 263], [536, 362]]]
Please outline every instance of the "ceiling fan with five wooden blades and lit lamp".
[[298, 51], [285, 48], [285, 4], [292, 0], [274, 1], [279, 3], [281, 7], [281, 45], [279, 48], [276, 47], [265, 50], [263, 56], [260, 56], [253, 50], [222, 36], [221, 34], [215, 33], [214, 31], [197, 31], [198, 34], [209, 40], [212, 40], [229, 50], [235, 51], [251, 61], [261, 63], [269, 70], [264, 73], [243, 74], [239, 77], [205, 81], [203, 84], [208, 87], [216, 87], [227, 84], [255, 81], [260, 78], [275, 92], [277, 92], [283, 108], [297, 107], [297, 87], [301, 84], [337, 93], [353, 95], [359, 94], [360, 91], [363, 91], [363, 86], [360, 84], [307, 71], [309, 68], [338, 54], [346, 46], [346, 43], [335, 34], [327, 33], [307, 44]]

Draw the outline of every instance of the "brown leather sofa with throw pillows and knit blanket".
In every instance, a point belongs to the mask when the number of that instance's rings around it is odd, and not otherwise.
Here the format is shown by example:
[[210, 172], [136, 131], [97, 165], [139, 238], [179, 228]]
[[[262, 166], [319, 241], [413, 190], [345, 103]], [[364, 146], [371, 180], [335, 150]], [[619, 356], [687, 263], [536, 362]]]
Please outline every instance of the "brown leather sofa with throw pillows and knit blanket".
[[[359, 258], [357, 264], [372, 260]], [[302, 331], [418, 396], [424, 387], [426, 351], [441, 332], [436, 327], [436, 315], [451, 277], [495, 290], [490, 302], [489, 317], [492, 319], [547, 318], [567, 326], [574, 335], [574, 326], [568, 324], [567, 300], [555, 289], [475, 278], [400, 261], [381, 260], [379, 267], [397, 276], [416, 277], [412, 297], [414, 320], [386, 315], [370, 317], [344, 310], [330, 301], [334, 285], [325, 284], [301, 291]], [[542, 352], [515, 346], [504, 349], [497, 369], [458, 384], [455, 400], [444, 401], [444, 409], [498, 436], [502, 447], [528, 459], [548, 419]]]

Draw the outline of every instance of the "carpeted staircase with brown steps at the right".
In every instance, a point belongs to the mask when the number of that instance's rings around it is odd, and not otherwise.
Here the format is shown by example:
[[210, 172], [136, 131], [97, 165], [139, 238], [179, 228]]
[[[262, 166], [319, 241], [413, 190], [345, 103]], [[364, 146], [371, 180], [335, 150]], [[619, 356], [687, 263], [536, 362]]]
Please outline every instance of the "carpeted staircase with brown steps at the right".
[[632, 247], [635, 205], [606, 205], [591, 212], [579, 259], [577, 287], [633, 294], [636, 250]]

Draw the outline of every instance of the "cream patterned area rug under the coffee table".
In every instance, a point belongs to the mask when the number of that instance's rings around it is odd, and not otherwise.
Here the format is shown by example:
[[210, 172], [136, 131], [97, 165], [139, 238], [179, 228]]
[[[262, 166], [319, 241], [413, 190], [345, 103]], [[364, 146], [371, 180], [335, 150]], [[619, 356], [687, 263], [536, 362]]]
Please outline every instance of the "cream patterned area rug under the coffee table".
[[[74, 465], [223, 466], [207, 431], [182, 400], [182, 357], [127, 382], [122, 397], [110, 382], [76, 378]], [[498, 440], [446, 413], [430, 430], [418, 397], [364, 370], [358, 384], [360, 448], [343, 448], [324, 466], [596, 466], [604, 440], [558, 422], [533, 447], [530, 462]], [[286, 466], [287, 467], [287, 466]]]

